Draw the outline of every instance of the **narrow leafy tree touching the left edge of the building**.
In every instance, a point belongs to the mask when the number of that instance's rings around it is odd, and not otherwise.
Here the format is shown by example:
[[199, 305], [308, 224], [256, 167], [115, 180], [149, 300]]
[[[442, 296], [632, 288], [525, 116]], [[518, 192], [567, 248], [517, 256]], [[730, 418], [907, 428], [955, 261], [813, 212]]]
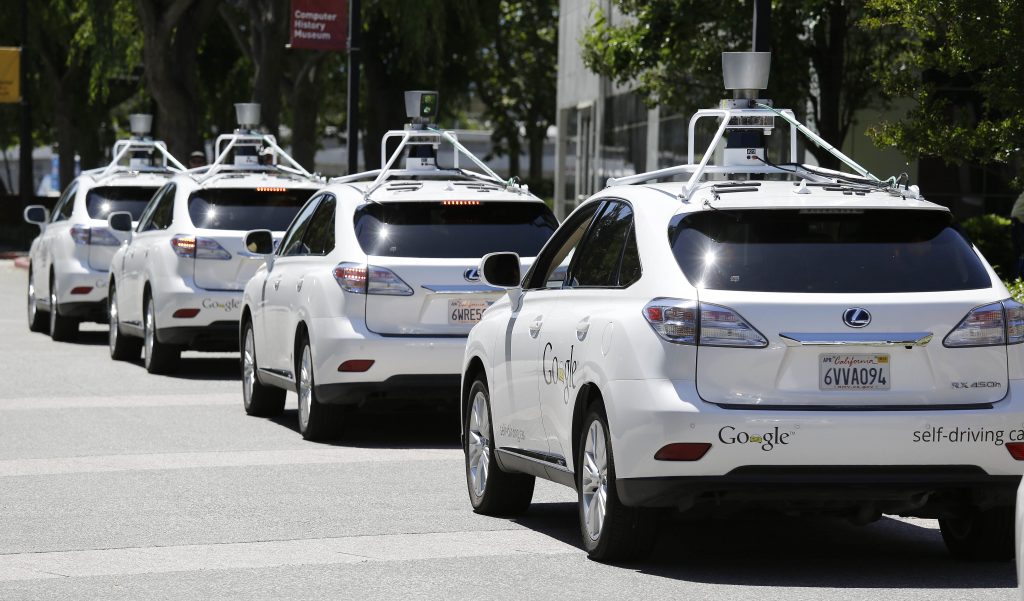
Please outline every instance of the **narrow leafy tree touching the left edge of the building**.
[[477, 91], [493, 124], [496, 154], [507, 154], [511, 175], [519, 175], [520, 128], [529, 148], [529, 181], [541, 182], [544, 141], [555, 122], [558, 69], [558, 2], [501, 0], [495, 37], [483, 47]]

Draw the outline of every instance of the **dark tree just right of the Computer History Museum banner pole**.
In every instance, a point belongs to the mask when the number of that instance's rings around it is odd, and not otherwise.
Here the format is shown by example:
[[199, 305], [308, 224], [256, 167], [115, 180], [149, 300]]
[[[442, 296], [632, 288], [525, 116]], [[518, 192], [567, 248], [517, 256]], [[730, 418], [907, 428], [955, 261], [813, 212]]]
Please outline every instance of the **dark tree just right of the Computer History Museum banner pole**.
[[[362, 66], [368, 168], [380, 162], [381, 137], [407, 122], [404, 90], [440, 92], [441, 117], [466, 97], [471, 70], [495, 23], [497, 0], [374, 0], [362, 6]], [[493, 34], [490, 34], [493, 35]]]

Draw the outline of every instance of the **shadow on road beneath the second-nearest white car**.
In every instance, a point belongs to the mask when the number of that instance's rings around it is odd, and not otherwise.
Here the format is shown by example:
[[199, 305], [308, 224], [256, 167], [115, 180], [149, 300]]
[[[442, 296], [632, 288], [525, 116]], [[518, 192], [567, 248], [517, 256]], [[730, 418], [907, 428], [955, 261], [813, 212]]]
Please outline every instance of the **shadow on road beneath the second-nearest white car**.
[[[291, 395], [290, 395], [291, 396]], [[299, 435], [298, 410], [285, 410], [270, 418]], [[350, 410], [337, 437], [324, 440], [332, 446], [361, 448], [459, 448], [459, 413], [376, 407]]]

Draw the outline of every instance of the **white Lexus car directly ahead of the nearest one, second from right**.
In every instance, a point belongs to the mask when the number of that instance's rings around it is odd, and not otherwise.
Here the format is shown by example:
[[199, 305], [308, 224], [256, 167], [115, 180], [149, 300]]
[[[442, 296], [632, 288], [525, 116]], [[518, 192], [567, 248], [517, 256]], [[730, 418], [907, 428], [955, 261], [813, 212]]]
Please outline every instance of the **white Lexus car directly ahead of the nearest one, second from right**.
[[[384, 145], [392, 137], [401, 140], [390, 160], [382, 157], [384, 169], [316, 192], [246, 286], [245, 409], [280, 414], [285, 391], [296, 390], [307, 439], [336, 434], [344, 405], [397, 398], [454, 406], [466, 335], [501, 294], [479, 282], [480, 257], [506, 248], [531, 257], [558, 223], [451, 133], [418, 123], [390, 132]], [[442, 140], [456, 149], [453, 164], [438, 168]], [[392, 169], [407, 149], [406, 168]], [[459, 169], [460, 152], [486, 174]], [[268, 250], [266, 232], [250, 240]]]

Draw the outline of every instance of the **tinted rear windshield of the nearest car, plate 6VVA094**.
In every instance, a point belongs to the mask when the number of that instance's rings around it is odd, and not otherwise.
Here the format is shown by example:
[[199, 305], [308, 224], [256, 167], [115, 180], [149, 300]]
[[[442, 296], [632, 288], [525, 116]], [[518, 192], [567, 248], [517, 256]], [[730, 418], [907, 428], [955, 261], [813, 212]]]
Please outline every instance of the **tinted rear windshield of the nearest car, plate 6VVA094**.
[[711, 290], [807, 293], [990, 288], [945, 211], [722, 210], [669, 228], [691, 284]]

